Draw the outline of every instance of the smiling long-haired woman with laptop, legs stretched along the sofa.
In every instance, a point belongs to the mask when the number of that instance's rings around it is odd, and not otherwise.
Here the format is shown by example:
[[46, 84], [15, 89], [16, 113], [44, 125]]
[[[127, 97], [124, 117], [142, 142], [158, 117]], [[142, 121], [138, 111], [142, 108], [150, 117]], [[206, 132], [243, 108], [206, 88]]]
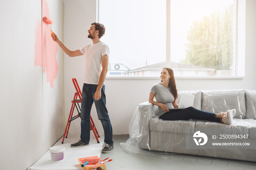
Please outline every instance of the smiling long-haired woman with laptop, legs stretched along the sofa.
[[[173, 75], [173, 70], [165, 67], [161, 72], [161, 82], [152, 86], [148, 102], [158, 106], [158, 116], [163, 120], [184, 120], [196, 119], [225, 123], [231, 125], [236, 109], [228, 110], [223, 113], [211, 113], [201, 111], [194, 107], [185, 109], [178, 108], [178, 92]], [[154, 97], [155, 100], [154, 101]]]

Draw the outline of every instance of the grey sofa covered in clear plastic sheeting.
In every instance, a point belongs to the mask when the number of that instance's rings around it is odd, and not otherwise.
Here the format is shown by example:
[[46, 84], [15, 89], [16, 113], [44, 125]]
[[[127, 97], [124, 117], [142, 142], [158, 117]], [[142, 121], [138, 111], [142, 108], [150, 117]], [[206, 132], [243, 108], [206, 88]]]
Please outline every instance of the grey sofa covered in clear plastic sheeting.
[[129, 125], [130, 138], [121, 146], [129, 151], [256, 162], [256, 90], [180, 91], [177, 103], [181, 93], [195, 95], [193, 106], [203, 111], [220, 113], [236, 109], [233, 124], [191, 119], [166, 121], [159, 119], [157, 106], [144, 102], [136, 108]]

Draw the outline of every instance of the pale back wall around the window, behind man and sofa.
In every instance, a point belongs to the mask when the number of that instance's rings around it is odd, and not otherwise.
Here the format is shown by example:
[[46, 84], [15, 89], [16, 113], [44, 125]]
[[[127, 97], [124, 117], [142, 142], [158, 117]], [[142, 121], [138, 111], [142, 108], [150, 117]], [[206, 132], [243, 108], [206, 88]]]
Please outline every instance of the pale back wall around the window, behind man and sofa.
[[[72, 50], [91, 43], [87, 38], [87, 30], [90, 24], [96, 21], [96, 1], [74, 0], [65, 3], [65, 24], [64, 39], [66, 45]], [[72, 8], [72, 9], [71, 9]], [[246, 0], [246, 37], [245, 37], [245, 78], [238, 79], [176, 79], [178, 90], [218, 90], [218, 89], [256, 89], [256, 1]], [[82, 9], [82, 11], [80, 11]], [[72, 13], [73, 11], [73, 13]], [[81, 22], [82, 21], [82, 22]], [[72, 24], [69, 24], [72, 22]], [[104, 24], [104, 23], [103, 23]], [[77, 36], [74, 36], [76, 32]], [[118, 35], [113, 35], [118, 39]], [[122, 39], [118, 39], [122, 40]], [[239, 41], [239, 40], [238, 40]], [[110, 49], [110, 57], [111, 51]], [[83, 57], [76, 59], [65, 55], [65, 114], [66, 119], [71, 107], [71, 100], [74, 97], [74, 86], [71, 79], [76, 78], [80, 88], [83, 85], [84, 60]], [[157, 79], [130, 79], [130, 78], [107, 78], [106, 100], [110, 120], [113, 126], [113, 134], [128, 134], [128, 126], [139, 103], [148, 100], [150, 88]], [[100, 134], [103, 134], [102, 125], [97, 120], [96, 110], [91, 111], [94, 123]], [[80, 133], [80, 119], [71, 123], [70, 133]]]

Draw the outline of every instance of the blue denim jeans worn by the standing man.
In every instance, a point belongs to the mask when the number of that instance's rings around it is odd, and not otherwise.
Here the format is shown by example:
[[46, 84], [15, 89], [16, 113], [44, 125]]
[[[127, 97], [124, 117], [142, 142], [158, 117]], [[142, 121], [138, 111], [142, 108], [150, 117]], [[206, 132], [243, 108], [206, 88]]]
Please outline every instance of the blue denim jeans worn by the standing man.
[[94, 94], [98, 85], [83, 84], [82, 101], [81, 101], [81, 140], [88, 144], [90, 141], [90, 115], [93, 102], [96, 107], [98, 119], [101, 121], [104, 130], [104, 142], [113, 145], [113, 132], [110, 123], [108, 110], [106, 108], [105, 85], [101, 88], [101, 98], [95, 100]]

